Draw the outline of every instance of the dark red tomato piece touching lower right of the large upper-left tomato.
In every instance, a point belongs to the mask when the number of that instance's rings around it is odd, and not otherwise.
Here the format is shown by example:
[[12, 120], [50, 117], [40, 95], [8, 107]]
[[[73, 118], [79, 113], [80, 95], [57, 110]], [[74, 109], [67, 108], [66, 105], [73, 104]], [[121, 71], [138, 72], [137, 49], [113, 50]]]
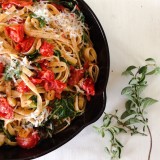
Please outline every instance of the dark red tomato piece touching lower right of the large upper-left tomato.
[[18, 44], [21, 48], [21, 52], [28, 52], [34, 43], [35, 38], [28, 37]]

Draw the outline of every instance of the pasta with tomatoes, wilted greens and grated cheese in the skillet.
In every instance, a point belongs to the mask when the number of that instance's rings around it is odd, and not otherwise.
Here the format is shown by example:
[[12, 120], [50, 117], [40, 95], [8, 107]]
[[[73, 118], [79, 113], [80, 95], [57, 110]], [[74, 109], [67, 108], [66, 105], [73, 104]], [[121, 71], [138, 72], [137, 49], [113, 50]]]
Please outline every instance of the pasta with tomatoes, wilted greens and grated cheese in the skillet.
[[77, 2], [64, 2], [1, 3], [0, 146], [33, 148], [68, 127], [95, 95], [89, 28]]

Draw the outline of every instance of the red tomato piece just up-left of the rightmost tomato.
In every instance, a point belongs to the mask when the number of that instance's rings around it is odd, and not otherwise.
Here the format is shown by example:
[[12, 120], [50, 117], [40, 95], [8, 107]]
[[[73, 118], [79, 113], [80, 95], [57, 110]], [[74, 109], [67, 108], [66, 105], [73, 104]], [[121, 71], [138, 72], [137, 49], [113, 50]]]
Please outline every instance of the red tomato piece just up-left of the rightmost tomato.
[[74, 86], [84, 77], [84, 69], [70, 68], [71, 76], [68, 79], [68, 84]]

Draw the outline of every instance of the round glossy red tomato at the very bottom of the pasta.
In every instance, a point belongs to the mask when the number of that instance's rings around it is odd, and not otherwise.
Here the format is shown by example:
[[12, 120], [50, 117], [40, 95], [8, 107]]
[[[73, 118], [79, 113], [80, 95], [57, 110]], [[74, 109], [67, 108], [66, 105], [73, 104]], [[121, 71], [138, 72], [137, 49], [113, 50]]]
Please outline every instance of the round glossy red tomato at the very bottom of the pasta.
[[30, 133], [27, 137], [20, 137], [19, 135], [16, 137], [17, 144], [26, 149], [33, 148], [37, 145], [40, 140], [40, 136], [38, 132], [34, 131]]

